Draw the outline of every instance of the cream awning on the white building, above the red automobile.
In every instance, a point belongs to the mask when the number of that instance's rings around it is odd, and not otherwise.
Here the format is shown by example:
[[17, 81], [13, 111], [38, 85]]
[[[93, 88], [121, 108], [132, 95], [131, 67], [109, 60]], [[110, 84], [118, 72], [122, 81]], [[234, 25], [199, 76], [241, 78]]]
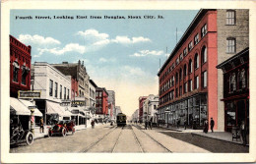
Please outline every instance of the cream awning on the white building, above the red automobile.
[[58, 103], [46, 101], [47, 114], [58, 114], [64, 117], [70, 117], [72, 115], [71, 112], [66, 110], [65, 107], [60, 106]]

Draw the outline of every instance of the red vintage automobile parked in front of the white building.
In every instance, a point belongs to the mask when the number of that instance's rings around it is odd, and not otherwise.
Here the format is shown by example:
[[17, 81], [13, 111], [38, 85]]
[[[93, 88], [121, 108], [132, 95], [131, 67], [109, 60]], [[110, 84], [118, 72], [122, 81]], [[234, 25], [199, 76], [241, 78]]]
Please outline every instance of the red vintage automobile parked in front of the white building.
[[74, 135], [75, 132], [75, 123], [73, 120], [62, 120], [49, 128], [48, 137], [52, 137], [53, 135], [61, 135], [62, 137], [66, 137], [67, 133]]

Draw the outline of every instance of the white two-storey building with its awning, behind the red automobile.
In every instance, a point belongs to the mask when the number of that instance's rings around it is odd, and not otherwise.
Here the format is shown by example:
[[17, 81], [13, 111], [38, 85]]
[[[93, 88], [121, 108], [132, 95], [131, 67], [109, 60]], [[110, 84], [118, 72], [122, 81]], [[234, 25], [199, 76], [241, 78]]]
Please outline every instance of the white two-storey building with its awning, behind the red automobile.
[[53, 120], [70, 120], [70, 79], [45, 62], [35, 62], [32, 74], [32, 88], [40, 91], [40, 98], [34, 101], [46, 124], [52, 124]]

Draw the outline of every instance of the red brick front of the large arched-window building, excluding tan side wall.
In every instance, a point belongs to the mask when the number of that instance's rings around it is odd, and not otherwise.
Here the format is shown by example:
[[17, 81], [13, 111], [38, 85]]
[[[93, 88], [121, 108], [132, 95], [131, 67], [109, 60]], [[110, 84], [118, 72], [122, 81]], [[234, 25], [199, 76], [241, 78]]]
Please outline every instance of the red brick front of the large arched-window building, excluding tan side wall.
[[[159, 110], [165, 123], [175, 125], [180, 120], [183, 125], [186, 120], [188, 125], [200, 127], [206, 119], [218, 120], [216, 56], [217, 11], [202, 10], [158, 74]], [[164, 113], [166, 109], [169, 114]]]

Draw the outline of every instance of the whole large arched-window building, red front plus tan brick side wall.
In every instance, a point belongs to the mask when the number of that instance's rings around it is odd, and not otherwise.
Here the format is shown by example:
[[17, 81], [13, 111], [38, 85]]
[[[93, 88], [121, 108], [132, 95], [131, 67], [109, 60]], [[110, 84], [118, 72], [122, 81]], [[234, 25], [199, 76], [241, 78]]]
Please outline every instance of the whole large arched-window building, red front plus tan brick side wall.
[[215, 129], [224, 131], [216, 66], [247, 43], [248, 10], [200, 10], [160, 68], [160, 118], [197, 128], [213, 118]]

